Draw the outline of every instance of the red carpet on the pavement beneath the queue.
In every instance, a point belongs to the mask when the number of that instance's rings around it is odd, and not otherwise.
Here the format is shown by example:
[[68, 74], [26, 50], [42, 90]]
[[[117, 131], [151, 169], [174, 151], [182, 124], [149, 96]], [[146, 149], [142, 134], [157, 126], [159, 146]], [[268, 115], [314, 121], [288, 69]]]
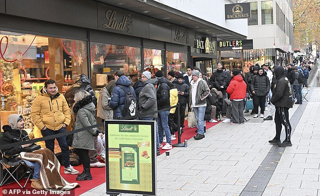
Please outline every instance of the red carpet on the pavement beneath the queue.
[[[215, 126], [217, 124], [218, 123], [209, 123], [209, 122], [207, 122], [206, 123], [206, 129], [209, 129], [212, 126]], [[184, 143], [184, 140], [189, 140], [190, 138], [195, 136], [196, 135], [196, 133], [194, 132], [195, 130], [196, 130], [196, 128], [188, 128], [188, 122], [185, 121], [185, 128], [183, 129], [184, 133], [181, 136], [181, 143]], [[172, 141], [172, 144], [176, 144], [176, 143], [178, 143], [178, 138], [176, 140]], [[168, 150], [162, 150], [160, 148], [160, 153], [161, 154], [165, 153], [166, 151], [168, 151]], [[98, 157], [98, 159], [99, 159], [99, 157]], [[99, 161], [102, 162], [100, 159], [99, 159]], [[82, 170], [83, 170], [82, 165], [75, 166], [74, 168], [77, 169], [79, 172], [82, 172]], [[84, 193], [84, 192], [86, 192], [86, 191], [88, 191], [88, 190], [90, 190], [90, 189], [92, 189], [92, 188], [94, 188], [94, 187], [96, 187], [96, 186], [98, 186], [98, 185], [100, 185], [100, 184], [105, 182], [105, 167], [91, 168], [92, 180], [85, 180], [85, 181], [77, 181], [76, 180], [77, 175], [65, 174], [64, 173], [64, 166], [61, 166], [60, 171], [61, 171], [60, 173], [62, 174], [62, 176], [67, 181], [69, 181], [69, 182], [77, 182], [77, 183], [80, 184], [81, 187], [75, 188], [74, 189], [75, 194], [72, 194], [72, 195], [80, 195], [80, 194], [82, 194], [82, 193]], [[25, 179], [20, 180], [21, 184], [24, 184], [24, 182], [25, 182]], [[29, 181], [27, 183], [27, 186], [26, 186], [26, 188], [29, 189], [29, 190], [31, 189], [30, 185], [31, 185], [31, 181]], [[17, 187], [19, 187], [19, 185], [16, 182], [12, 182], [10, 184], [2, 186], [1, 188], [17, 188]]]

